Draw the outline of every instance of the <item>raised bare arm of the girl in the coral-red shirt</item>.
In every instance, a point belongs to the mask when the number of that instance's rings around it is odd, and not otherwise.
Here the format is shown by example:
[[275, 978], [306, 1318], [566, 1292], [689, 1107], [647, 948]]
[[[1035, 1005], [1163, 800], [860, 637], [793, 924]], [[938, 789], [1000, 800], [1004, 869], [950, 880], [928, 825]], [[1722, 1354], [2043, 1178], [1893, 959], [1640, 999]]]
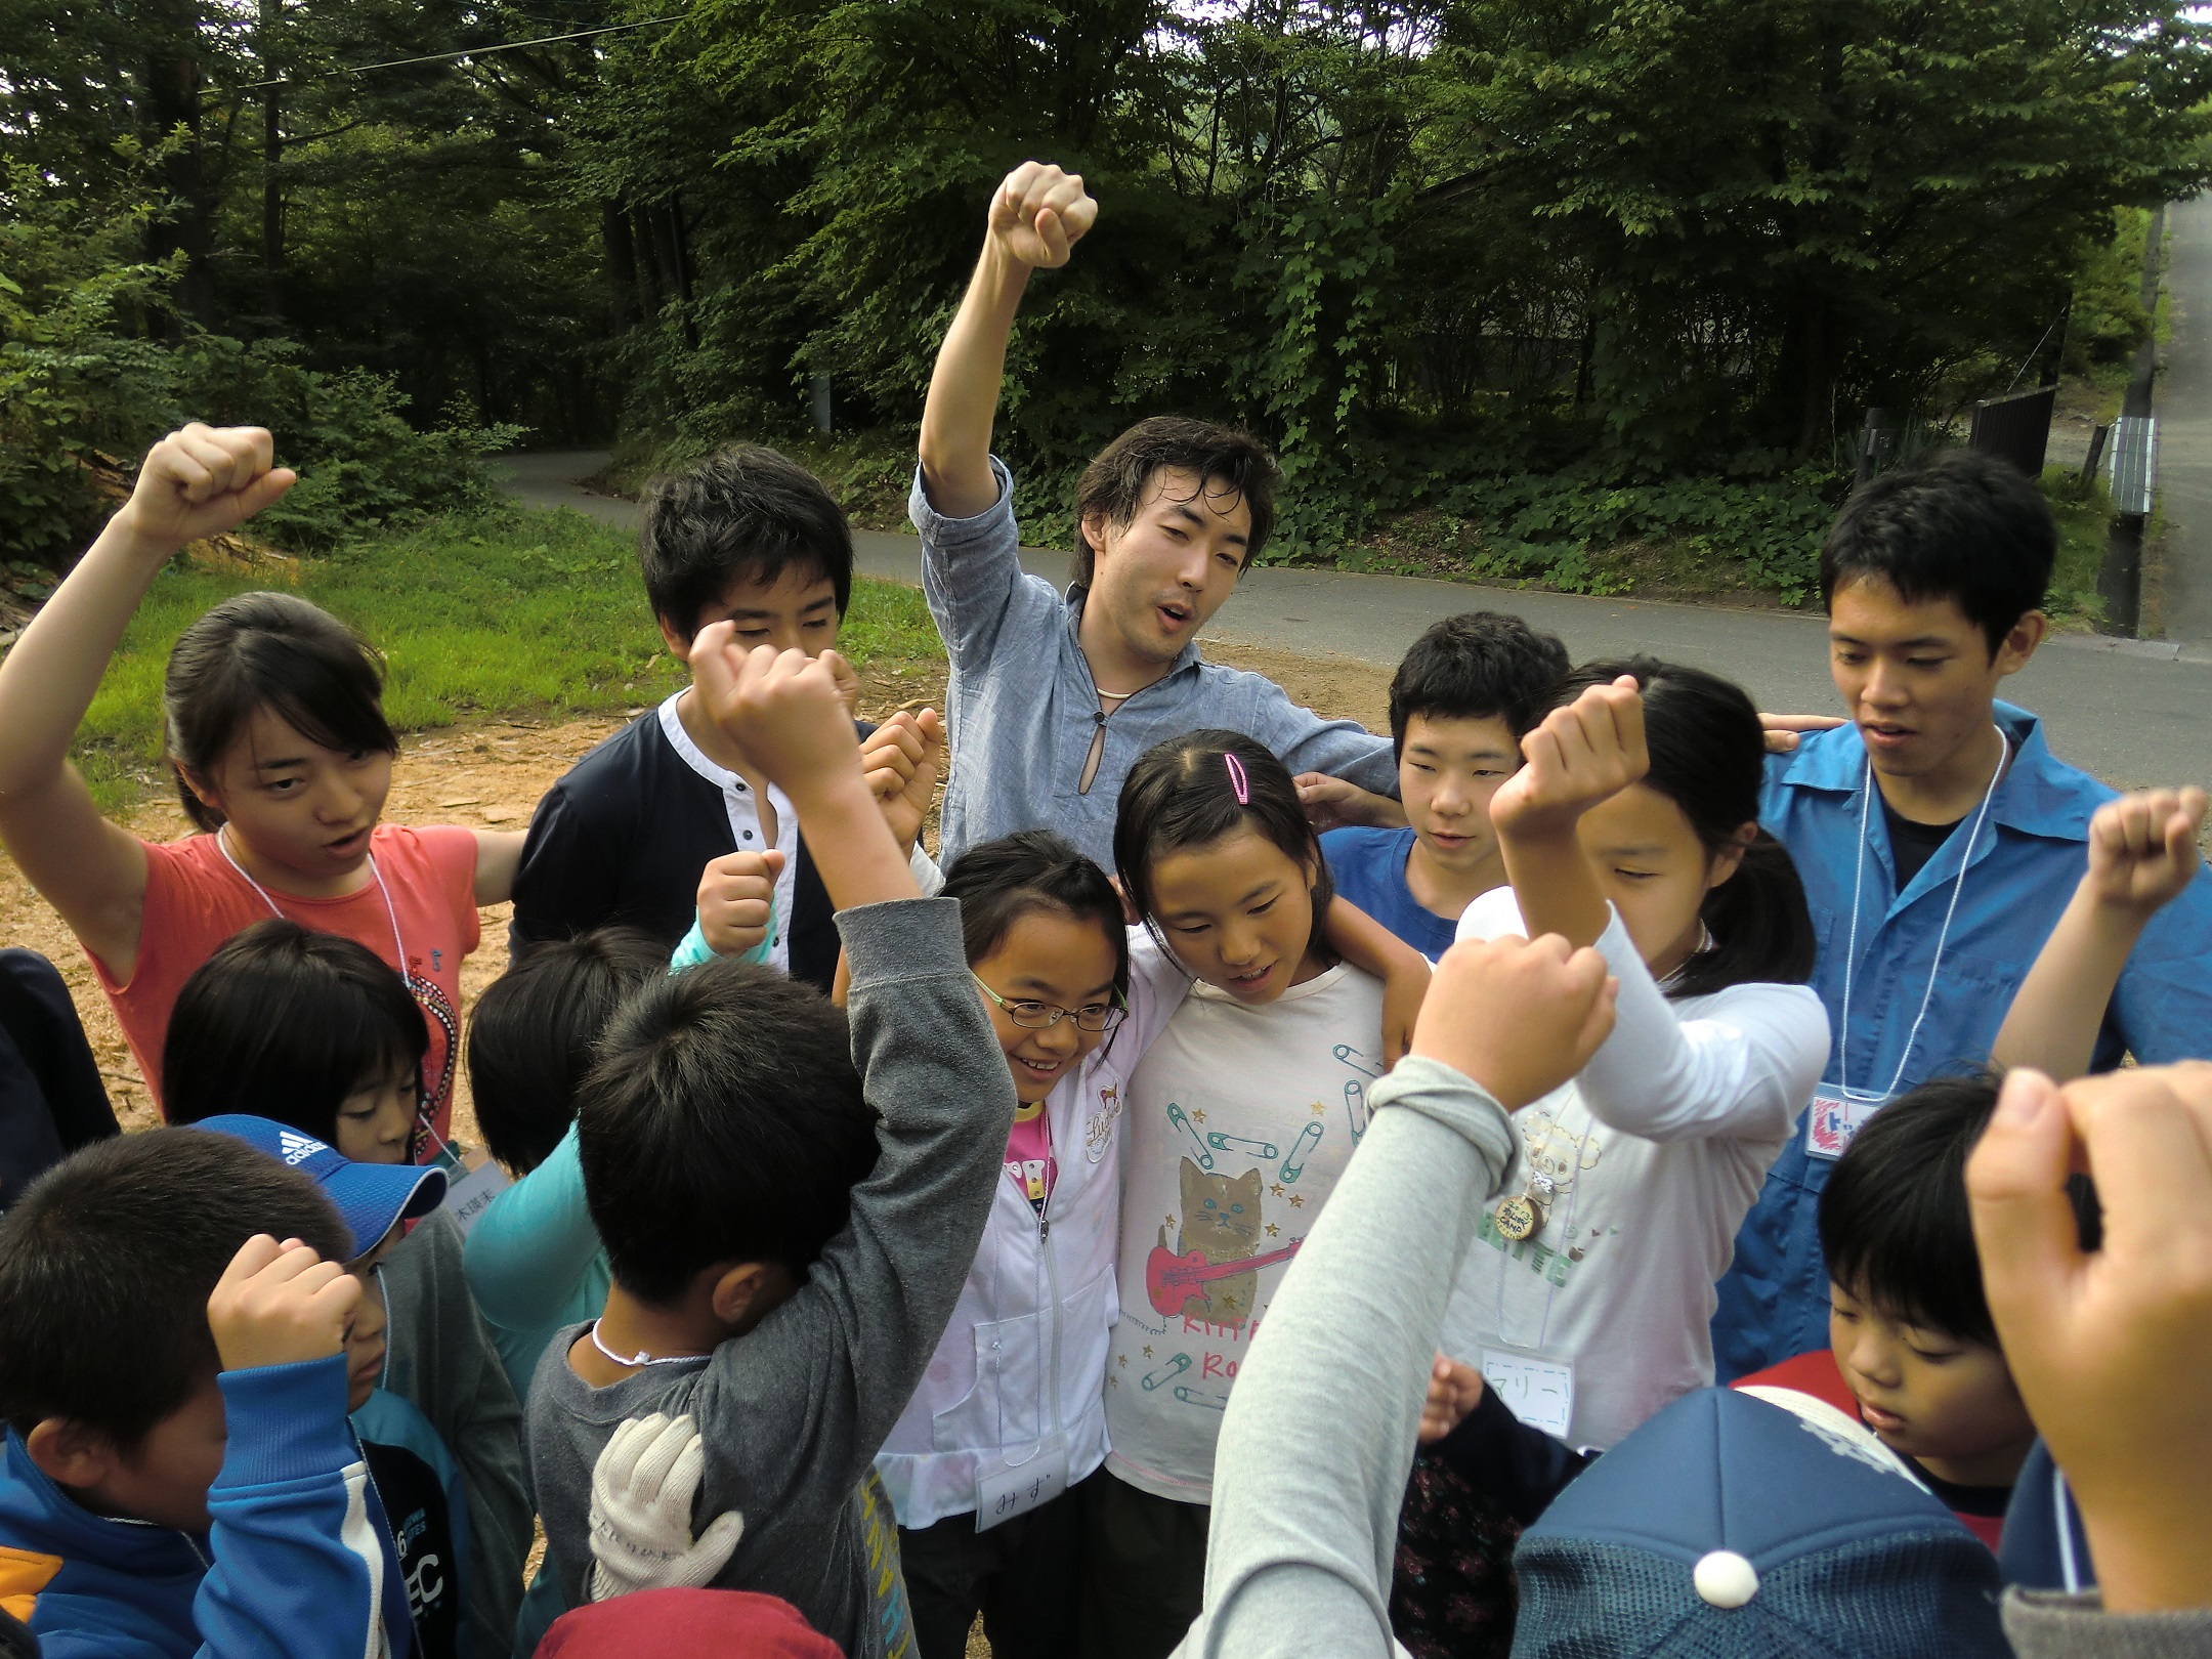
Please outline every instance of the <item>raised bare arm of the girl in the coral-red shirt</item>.
[[292, 487], [261, 427], [190, 425], [157, 442], [131, 500], [0, 661], [0, 843], [119, 980], [137, 967], [146, 852], [100, 816], [69, 741], [153, 577], [186, 542], [252, 518]]

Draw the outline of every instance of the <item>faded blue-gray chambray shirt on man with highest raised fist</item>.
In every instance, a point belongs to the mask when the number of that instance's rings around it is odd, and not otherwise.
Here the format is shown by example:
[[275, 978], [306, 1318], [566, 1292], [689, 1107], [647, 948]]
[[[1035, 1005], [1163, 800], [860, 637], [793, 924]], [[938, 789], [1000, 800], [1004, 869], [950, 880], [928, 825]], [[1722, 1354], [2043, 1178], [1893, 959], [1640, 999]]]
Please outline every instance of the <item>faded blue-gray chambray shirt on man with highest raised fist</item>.
[[1088, 794], [1077, 794], [1099, 712], [1075, 639], [1084, 588], [1062, 595], [1022, 571], [1013, 473], [998, 456], [991, 471], [998, 500], [975, 518], [938, 513], [922, 493], [920, 467], [907, 498], [907, 515], [922, 533], [922, 595], [951, 657], [951, 776], [938, 863], [951, 867], [978, 841], [1055, 830], [1113, 869], [1115, 803], [1130, 763], [1155, 743], [1208, 726], [1265, 743], [1294, 774], [1329, 772], [1374, 794], [1398, 794], [1387, 737], [1356, 721], [1325, 721], [1272, 679], [1206, 661], [1197, 644], [1106, 719], [1097, 776]]

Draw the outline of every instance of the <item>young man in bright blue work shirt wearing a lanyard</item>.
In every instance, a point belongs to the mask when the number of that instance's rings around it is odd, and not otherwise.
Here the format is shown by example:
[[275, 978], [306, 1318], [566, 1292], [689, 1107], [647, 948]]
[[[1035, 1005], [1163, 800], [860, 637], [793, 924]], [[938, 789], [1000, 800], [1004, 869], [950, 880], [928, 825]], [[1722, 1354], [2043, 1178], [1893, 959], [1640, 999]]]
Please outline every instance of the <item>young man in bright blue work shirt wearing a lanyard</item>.
[[[1820, 549], [1829, 672], [1851, 719], [1767, 761], [1761, 821], [1790, 847], [1820, 938], [1827, 1073], [1721, 1279], [1723, 1380], [1827, 1340], [1816, 1210], [1834, 1159], [1887, 1099], [1991, 1051], [2088, 860], [2112, 790], [1997, 701], [2048, 619], [2042, 491], [1951, 451], [1876, 478]], [[2205, 1053], [2212, 878], [2152, 918], [2104, 1013], [2097, 1068]]]

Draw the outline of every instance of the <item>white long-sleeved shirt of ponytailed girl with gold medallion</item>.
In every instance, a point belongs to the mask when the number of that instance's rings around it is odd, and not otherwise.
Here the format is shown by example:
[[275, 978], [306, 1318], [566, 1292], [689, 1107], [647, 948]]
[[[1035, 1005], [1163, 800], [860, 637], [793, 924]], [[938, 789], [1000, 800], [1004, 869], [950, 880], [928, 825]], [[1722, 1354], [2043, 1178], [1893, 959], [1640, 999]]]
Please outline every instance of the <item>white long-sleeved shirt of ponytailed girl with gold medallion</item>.
[[[1524, 933], [1511, 887], [1467, 907], [1460, 938]], [[1582, 1075], [1513, 1113], [1502, 1192], [1553, 1177], [1520, 1243], [1475, 1230], [1444, 1352], [1571, 1365], [1577, 1447], [1610, 1447], [1712, 1385], [1714, 1281], [1827, 1064], [1827, 1011], [1803, 984], [1732, 984], [1668, 1002], [1615, 911], [1597, 940], [1621, 982], [1613, 1035]]]

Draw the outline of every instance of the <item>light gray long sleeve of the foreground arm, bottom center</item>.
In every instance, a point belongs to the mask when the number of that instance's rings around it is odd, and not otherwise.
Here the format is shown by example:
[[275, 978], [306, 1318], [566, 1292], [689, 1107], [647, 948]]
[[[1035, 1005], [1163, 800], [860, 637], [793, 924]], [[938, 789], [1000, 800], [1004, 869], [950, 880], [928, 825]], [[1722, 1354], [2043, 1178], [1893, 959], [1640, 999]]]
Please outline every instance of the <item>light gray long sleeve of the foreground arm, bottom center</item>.
[[1391, 1555], [1429, 1365], [1480, 1201], [1513, 1148], [1498, 1102], [1436, 1060], [1398, 1062], [1369, 1102], [1374, 1126], [1230, 1394], [1206, 1608], [1179, 1659], [1396, 1648]]

